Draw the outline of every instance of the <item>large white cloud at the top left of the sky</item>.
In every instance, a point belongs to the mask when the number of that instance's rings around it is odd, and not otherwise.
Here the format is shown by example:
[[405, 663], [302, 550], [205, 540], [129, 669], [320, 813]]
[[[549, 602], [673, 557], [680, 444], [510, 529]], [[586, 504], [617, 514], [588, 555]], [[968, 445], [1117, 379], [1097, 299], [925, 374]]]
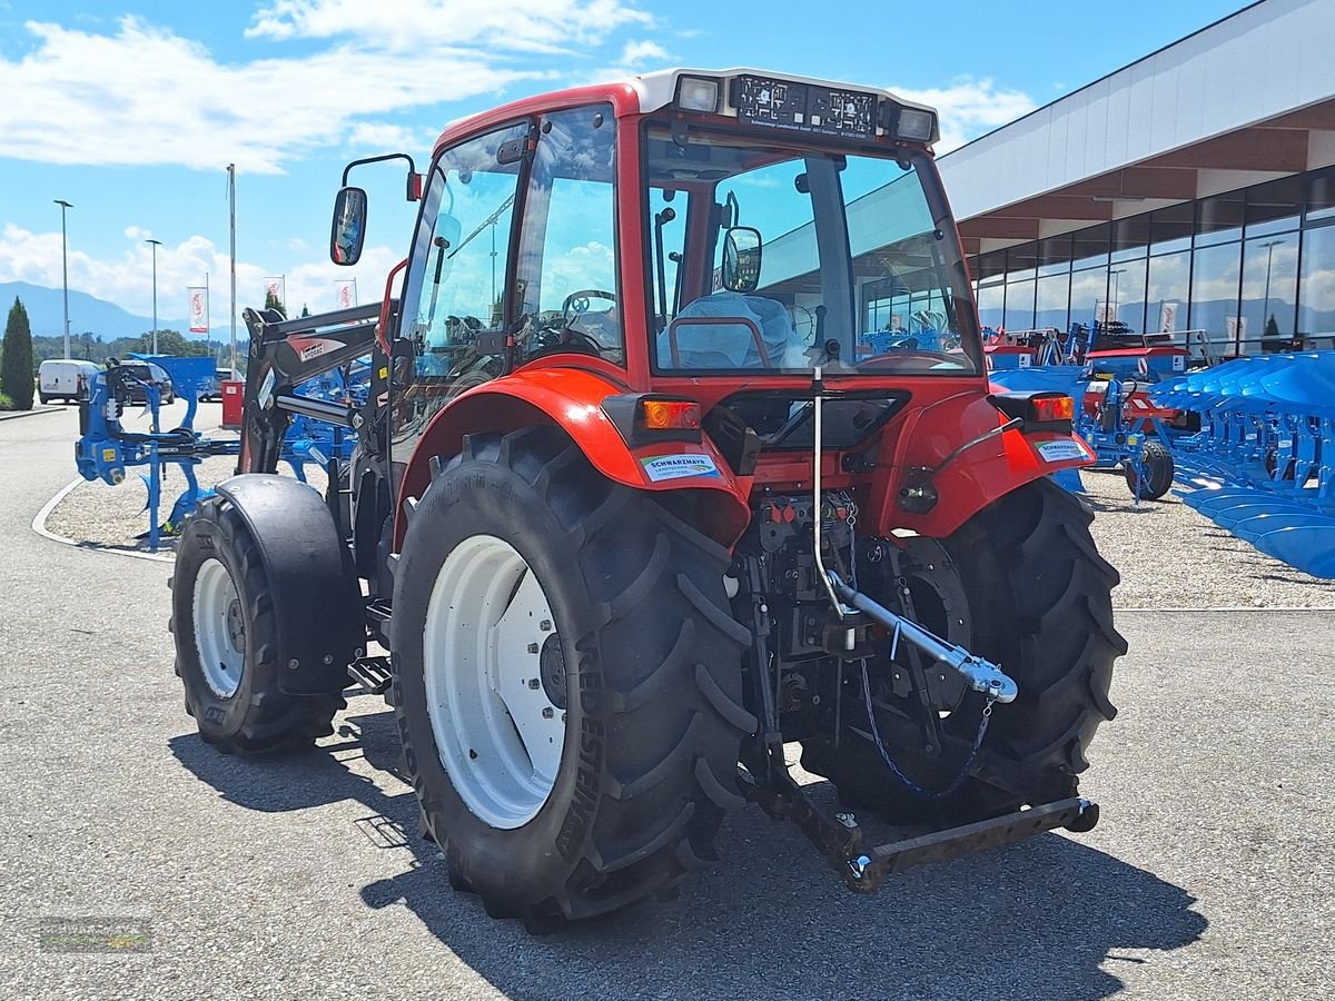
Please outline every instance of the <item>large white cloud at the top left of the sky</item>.
[[279, 174], [340, 141], [425, 144], [430, 139], [375, 116], [539, 79], [531, 59], [515, 56], [565, 43], [583, 51], [615, 28], [649, 23], [621, 0], [272, 0], [251, 36], [328, 44], [224, 63], [140, 17], [120, 19], [113, 33], [28, 21], [31, 51], [0, 56], [0, 156], [195, 170], [235, 163]]

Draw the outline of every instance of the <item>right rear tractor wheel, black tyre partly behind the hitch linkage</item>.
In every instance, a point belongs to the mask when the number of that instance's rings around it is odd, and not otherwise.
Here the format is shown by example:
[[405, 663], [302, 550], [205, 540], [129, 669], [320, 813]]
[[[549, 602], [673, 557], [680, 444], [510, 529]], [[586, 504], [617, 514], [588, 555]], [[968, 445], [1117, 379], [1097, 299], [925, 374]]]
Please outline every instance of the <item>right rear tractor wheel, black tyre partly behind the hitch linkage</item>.
[[[804, 745], [802, 765], [830, 778], [849, 806], [892, 822], [965, 823], [1075, 795], [1095, 730], [1116, 714], [1112, 666], [1127, 651], [1112, 625], [1117, 571], [1095, 549], [1091, 521], [1079, 498], [1041, 479], [940, 543], [916, 539], [901, 563], [920, 621], [1000, 663], [1020, 686], [1015, 702], [993, 707], [972, 762], [983, 697], [965, 693], [953, 673], [928, 670], [929, 697], [918, 709], [917, 693], [901, 687], [910, 673], [894, 662], [870, 673], [876, 731], [857, 681], [841, 739]], [[876, 583], [865, 582], [872, 597]], [[894, 601], [893, 582], [880, 585], [886, 603]], [[934, 746], [922, 738], [922, 711], [937, 717]]]

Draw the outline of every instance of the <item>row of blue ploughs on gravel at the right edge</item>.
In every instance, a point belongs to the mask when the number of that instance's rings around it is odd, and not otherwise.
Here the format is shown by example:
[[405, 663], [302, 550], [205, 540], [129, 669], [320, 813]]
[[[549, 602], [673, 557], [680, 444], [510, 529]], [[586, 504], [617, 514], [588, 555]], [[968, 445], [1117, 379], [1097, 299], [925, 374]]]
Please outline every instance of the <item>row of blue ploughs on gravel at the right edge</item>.
[[1183, 500], [1262, 553], [1335, 579], [1335, 351], [1239, 358], [1151, 390], [1191, 408]]

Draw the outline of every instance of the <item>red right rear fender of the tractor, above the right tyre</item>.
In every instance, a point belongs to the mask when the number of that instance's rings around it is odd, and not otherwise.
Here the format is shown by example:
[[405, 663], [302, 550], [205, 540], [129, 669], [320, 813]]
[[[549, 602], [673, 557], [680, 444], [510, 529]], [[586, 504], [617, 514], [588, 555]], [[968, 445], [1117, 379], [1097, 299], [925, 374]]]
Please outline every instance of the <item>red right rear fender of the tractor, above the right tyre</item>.
[[987, 395], [963, 392], [933, 403], [900, 428], [890, 446], [893, 459], [885, 466], [885, 479], [873, 488], [877, 533], [909, 529], [920, 535], [944, 538], [969, 518], [1040, 476], [1091, 466], [1093, 450], [1079, 435], [1060, 431], [1009, 430], [968, 448], [932, 476], [939, 500], [922, 514], [900, 506], [904, 471], [937, 467], [952, 450], [1005, 423], [1005, 416]]

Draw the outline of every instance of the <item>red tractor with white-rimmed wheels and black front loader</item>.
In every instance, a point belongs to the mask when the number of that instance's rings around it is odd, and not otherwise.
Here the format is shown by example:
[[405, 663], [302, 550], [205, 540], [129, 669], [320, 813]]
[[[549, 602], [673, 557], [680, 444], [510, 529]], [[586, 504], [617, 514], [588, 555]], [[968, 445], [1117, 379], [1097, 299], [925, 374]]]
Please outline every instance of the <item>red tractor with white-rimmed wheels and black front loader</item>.
[[[1125, 645], [1048, 474], [1092, 455], [1069, 396], [989, 392], [936, 137], [884, 91], [669, 71], [409, 160], [383, 302], [247, 311], [238, 475], [176, 558], [200, 735], [310, 746], [383, 693], [450, 884], [533, 930], [669, 894], [748, 801], [858, 890], [1088, 830]], [[909, 316], [941, 330], [857, 350]], [[295, 391], [366, 354], [364, 404]], [[358, 435], [324, 498], [274, 475], [294, 414]]]

